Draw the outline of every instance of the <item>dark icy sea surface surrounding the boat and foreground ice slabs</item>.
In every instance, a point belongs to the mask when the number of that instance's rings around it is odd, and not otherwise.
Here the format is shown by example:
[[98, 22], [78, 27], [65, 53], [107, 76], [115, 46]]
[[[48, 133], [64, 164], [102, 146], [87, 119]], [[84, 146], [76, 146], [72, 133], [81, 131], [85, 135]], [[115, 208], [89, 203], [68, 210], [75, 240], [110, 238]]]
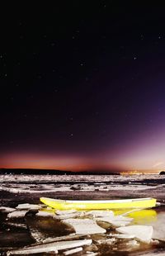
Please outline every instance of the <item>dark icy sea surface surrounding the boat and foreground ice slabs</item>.
[[[0, 206], [16, 207], [18, 204], [40, 204], [40, 197], [59, 199], [120, 199], [155, 197], [160, 206], [154, 211], [157, 219], [152, 225], [161, 235], [165, 234], [165, 176], [164, 175], [0, 175]], [[152, 210], [153, 211], [153, 210]], [[0, 253], [34, 244], [34, 238], [54, 238], [68, 235], [59, 222], [51, 218], [36, 218], [36, 211], [29, 211], [25, 218], [7, 219], [0, 211]], [[150, 220], [139, 220], [149, 225]], [[146, 223], [145, 223], [146, 222]], [[107, 233], [110, 230], [107, 230]], [[113, 232], [113, 230], [112, 230]], [[93, 241], [98, 238], [92, 237]], [[165, 236], [164, 236], [165, 239]], [[97, 243], [97, 242], [96, 242]], [[94, 244], [96, 245], [96, 244]], [[140, 244], [139, 249], [125, 248], [123, 240], [118, 244], [93, 245], [96, 255], [165, 255], [165, 242]], [[37, 254], [38, 255], [38, 254]], [[47, 255], [47, 254], [40, 254]], [[54, 255], [54, 254], [52, 254]], [[59, 254], [63, 255], [63, 254]], [[75, 255], [86, 255], [84, 251]]]

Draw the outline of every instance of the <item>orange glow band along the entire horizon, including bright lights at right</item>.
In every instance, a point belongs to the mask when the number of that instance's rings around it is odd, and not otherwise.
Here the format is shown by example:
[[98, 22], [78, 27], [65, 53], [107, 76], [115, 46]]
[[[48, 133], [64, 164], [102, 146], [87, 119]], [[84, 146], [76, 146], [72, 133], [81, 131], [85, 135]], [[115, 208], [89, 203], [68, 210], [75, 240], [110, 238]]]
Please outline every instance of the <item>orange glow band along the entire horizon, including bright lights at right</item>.
[[[117, 162], [117, 161], [116, 161]], [[131, 162], [131, 161], [130, 161]], [[103, 163], [103, 164], [102, 164]], [[119, 164], [120, 163], [120, 164]], [[158, 174], [164, 171], [163, 162], [155, 162], [151, 168], [128, 168], [128, 164], [120, 161], [111, 164], [111, 161], [101, 159], [87, 159], [73, 156], [59, 156], [46, 154], [4, 154], [0, 159], [0, 168], [33, 168], [56, 169], [64, 171], [89, 171], [95, 173], [112, 172], [120, 174]], [[138, 164], [137, 164], [138, 165]]]

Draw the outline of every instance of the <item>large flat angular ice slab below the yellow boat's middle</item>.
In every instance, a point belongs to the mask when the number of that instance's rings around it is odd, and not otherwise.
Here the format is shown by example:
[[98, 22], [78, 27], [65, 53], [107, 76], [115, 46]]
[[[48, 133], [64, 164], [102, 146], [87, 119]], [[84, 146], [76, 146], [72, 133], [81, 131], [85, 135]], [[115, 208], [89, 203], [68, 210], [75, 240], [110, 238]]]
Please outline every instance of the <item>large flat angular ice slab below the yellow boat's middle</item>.
[[71, 225], [77, 235], [81, 235], [81, 234], [92, 235], [92, 234], [106, 233], [106, 230], [102, 229], [99, 225], [97, 225], [95, 220], [68, 219], [68, 220], [63, 220], [62, 222], [66, 225]]

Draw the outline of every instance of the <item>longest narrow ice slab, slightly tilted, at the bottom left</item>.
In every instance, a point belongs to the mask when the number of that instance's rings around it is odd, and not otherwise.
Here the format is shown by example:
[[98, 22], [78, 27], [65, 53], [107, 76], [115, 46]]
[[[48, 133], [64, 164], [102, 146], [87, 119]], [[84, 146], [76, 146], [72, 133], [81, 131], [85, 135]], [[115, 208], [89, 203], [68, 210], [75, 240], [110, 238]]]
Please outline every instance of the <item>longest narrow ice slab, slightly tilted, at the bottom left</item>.
[[71, 249], [71, 248], [81, 247], [83, 245], [90, 245], [90, 244], [92, 244], [92, 239], [55, 242], [50, 244], [31, 246], [26, 249], [16, 249], [16, 250], [8, 251], [7, 256], [40, 254], [40, 253], [49, 253], [49, 252], [54, 252], [57, 254], [58, 250]]

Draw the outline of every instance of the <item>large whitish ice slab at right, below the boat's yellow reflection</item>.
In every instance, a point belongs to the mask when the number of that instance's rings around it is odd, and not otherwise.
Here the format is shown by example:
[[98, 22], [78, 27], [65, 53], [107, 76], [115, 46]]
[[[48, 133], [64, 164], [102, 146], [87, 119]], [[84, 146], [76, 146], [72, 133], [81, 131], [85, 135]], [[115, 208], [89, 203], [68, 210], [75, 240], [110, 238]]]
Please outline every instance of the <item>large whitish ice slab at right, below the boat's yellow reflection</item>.
[[116, 231], [126, 235], [134, 235], [136, 239], [145, 243], [150, 243], [153, 235], [153, 227], [148, 225], [129, 225], [117, 228]]

